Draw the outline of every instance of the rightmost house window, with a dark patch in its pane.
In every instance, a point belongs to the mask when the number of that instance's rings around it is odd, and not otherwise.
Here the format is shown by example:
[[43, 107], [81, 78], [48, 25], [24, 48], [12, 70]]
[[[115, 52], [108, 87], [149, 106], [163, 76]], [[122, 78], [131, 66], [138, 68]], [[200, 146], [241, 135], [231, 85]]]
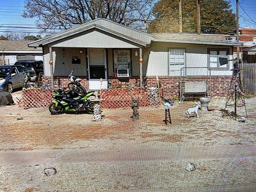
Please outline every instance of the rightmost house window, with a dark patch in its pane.
[[209, 50], [210, 61], [209, 67], [214, 69], [228, 69], [228, 64], [220, 65], [219, 58], [227, 58], [228, 59], [228, 51], [227, 50]]

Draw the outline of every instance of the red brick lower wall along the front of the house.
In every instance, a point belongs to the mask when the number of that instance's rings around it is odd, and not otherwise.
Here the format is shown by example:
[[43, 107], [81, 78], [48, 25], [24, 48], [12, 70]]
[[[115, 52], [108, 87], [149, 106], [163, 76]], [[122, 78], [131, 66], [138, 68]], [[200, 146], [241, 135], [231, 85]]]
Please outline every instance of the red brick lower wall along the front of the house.
[[[88, 90], [88, 82], [86, 77], [78, 77], [82, 79], [82, 85]], [[116, 78], [109, 77], [111, 81], [111, 85], [113, 88], [134, 88], [140, 86], [139, 77], [132, 78]], [[169, 97], [179, 96], [179, 76], [159, 76], [159, 83], [163, 87], [163, 94]], [[205, 76], [187, 76], [185, 77], [185, 81], [188, 82], [202, 82], [206, 81], [207, 84], [210, 84], [210, 78]], [[212, 97], [226, 97], [229, 90], [229, 84], [231, 81], [231, 76], [212, 76], [211, 84], [212, 84]], [[43, 85], [51, 83], [51, 77], [43, 78]], [[54, 77], [54, 87], [65, 87], [70, 83], [67, 77]], [[148, 77], [147, 78], [148, 87], [157, 87], [156, 77]]]

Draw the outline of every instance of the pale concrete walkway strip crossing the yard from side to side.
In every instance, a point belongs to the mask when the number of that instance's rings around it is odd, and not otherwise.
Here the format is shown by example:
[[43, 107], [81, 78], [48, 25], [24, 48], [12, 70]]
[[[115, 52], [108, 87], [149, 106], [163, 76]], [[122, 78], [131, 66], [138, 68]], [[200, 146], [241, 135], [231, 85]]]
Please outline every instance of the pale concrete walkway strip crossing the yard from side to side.
[[193, 159], [256, 157], [256, 145], [170, 147], [122, 150], [1, 151], [0, 165], [191, 161]]

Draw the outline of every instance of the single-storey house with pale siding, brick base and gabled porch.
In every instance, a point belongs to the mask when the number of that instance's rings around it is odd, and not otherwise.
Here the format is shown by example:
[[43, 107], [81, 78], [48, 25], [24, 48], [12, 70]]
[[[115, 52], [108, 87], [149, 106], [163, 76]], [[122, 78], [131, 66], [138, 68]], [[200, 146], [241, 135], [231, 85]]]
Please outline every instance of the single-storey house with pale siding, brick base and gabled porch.
[[67, 85], [74, 69], [89, 90], [107, 89], [108, 81], [113, 87], [140, 86], [145, 76], [148, 86], [157, 86], [158, 76], [164, 94], [178, 95], [181, 69], [187, 67], [182, 73], [192, 81], [205, 81], [211, 69], [215, 96], [227, 94], [233, 68], [232, 61], [220, 65], [218, 58], [232, 59], [237, 45], [242, 43], [223, 35], [147, 34], [106, 19], [28, 43], [43, 47], [44, 81], [55, 86]]

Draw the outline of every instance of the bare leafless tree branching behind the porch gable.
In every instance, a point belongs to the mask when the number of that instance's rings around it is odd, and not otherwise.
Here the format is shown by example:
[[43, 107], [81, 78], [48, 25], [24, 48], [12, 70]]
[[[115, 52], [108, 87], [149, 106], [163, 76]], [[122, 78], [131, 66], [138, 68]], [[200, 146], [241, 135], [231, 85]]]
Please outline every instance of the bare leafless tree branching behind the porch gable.
[[37, 18], [47, 29], [68, 29], [106, 18], [126, 26], [140, 27], [149, 22], [154, 0], [26, 0], [23, 17]]

